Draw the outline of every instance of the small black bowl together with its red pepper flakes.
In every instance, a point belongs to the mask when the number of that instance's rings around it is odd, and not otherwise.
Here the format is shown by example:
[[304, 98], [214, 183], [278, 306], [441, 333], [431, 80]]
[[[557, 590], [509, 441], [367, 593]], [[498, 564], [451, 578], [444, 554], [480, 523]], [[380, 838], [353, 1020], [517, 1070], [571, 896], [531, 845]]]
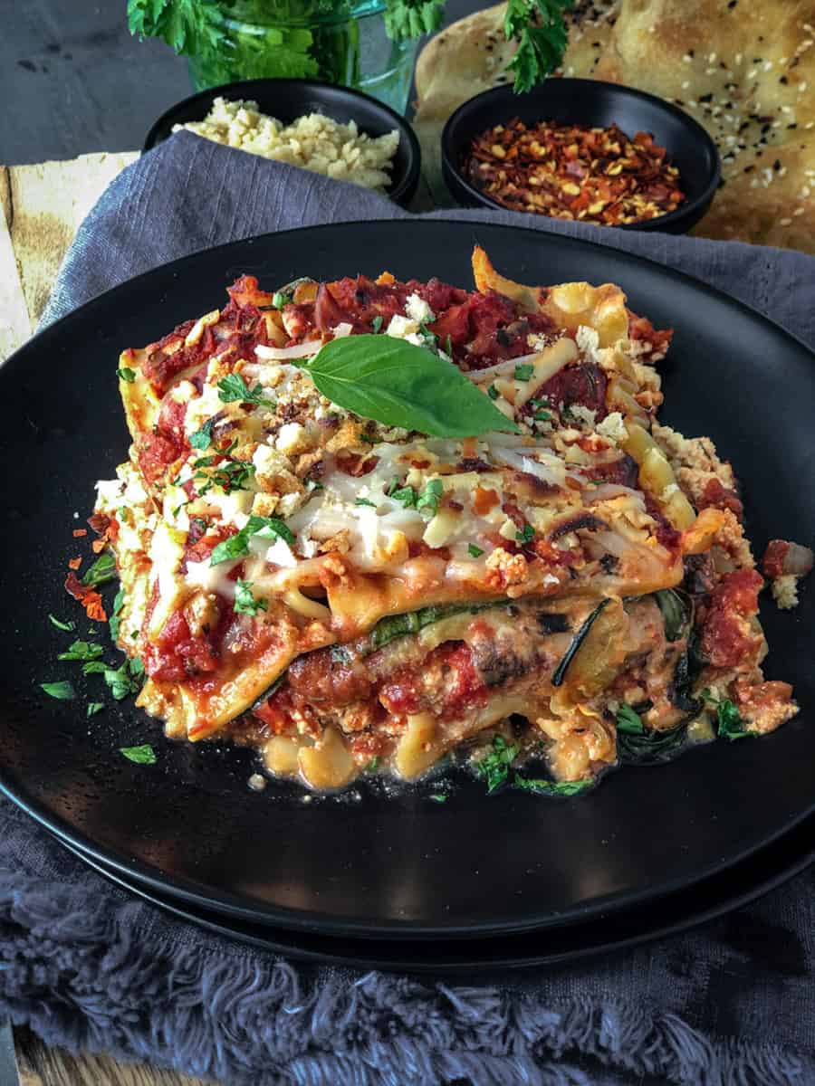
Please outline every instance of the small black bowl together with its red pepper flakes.
[[685, 233], [719, 182], [707, 132], [653, 94], [597, 79], [497, 87], [465, 102], [441, 137], [444, 180], [466, 206]]

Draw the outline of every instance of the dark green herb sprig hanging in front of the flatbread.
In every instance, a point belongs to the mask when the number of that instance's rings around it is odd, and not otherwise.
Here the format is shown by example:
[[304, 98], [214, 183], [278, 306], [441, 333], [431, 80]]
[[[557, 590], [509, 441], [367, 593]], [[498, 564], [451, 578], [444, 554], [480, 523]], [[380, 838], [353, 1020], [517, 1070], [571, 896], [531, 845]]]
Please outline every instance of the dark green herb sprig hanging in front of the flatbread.
[[573, 0], [509, 0], [504, 36], [518, 42], [509, 67], [515, 74], [515, 92], [531, 90], [563, 60], [567, 31], [564, 12]]

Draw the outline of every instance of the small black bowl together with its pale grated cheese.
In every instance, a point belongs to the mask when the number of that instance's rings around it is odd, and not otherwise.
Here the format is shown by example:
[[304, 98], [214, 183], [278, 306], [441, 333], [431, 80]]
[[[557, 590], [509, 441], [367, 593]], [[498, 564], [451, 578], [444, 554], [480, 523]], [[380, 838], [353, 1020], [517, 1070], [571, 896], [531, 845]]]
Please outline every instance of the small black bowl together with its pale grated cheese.
[[212, 87], [173, 105], [145, 140], [176, 131], [349, 181], [406, 206], [418, 186], [418, 140], [376, 99], [316, 79], [250, 79]]

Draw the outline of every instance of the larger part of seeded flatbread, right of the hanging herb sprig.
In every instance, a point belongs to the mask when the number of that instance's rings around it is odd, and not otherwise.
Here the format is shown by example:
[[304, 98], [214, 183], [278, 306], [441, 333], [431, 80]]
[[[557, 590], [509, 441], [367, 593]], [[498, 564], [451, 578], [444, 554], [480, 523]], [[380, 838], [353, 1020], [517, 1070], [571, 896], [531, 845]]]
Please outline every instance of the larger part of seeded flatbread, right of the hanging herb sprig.
[[813, 0], [624, 0], [595, 75], [716, 140], [724, 185], [694, 232], [815, 252]]

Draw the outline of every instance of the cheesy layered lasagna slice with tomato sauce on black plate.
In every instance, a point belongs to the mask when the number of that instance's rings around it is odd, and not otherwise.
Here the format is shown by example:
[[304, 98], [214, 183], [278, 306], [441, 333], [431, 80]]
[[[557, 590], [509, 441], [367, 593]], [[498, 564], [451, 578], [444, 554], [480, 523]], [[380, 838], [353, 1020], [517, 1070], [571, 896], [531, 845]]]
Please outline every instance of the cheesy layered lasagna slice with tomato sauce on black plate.
[[[612, 285], [473, 265], [475, 291], [243, 276], [122, 355], [133, 445], [93, 523], [138, 704], [168, 735], [251, 744], [325, 788], [372, 765], [415, 778], [512, 721], [582, 781], [616, 761], [620, 719], [645, 743], [710, 733], [716, 699], [756, 731], [797, 711], [760, 671], [732, 472], [656, 422], [670, 332]], [[457, 367], [512, 432], [428, 437], [331, 402], [309, 367], [361, 334]]]

